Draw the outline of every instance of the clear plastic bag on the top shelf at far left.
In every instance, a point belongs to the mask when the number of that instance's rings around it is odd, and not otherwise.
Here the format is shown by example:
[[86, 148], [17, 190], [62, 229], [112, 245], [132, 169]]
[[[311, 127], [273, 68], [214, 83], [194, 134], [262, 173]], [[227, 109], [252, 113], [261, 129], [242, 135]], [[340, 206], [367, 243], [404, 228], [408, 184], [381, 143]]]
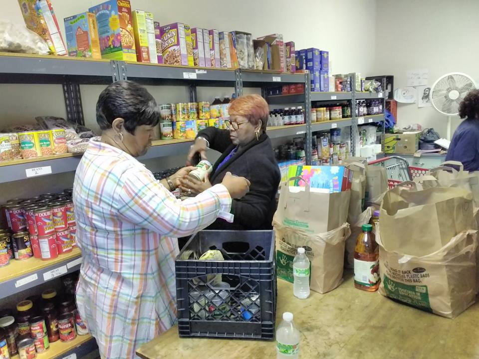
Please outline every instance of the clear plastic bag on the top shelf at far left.
[[0, 51], [46, 55], [50, 49], [38, 34], [25, 26], [0, 20]]

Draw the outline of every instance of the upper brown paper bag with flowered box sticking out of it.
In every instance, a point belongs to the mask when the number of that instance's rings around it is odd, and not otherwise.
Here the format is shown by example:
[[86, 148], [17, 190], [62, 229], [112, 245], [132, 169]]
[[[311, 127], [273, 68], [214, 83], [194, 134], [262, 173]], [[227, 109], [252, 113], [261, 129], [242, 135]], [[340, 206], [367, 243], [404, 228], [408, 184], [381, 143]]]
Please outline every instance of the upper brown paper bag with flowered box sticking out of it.
[[346, 222], [350, 195], [351, 191], [311, 191], [307, 184], [304, 187], [283, 185], [273, 220], [310, 234], [329, 232]]

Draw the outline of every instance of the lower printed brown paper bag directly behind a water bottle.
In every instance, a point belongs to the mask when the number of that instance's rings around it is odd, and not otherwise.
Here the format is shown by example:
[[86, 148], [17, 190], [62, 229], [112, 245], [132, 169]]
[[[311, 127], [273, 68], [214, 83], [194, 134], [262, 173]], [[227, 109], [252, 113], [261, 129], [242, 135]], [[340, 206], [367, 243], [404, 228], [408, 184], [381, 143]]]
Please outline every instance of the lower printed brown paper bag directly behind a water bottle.
[[351, 233], [343, 223], [332, 231], [311, 235], [273, 222], [276, 238], [276, 273], [278, 278], [293, 283], [293, 259], [303, 247], [311, 262], [310, 289], [327, 293], [343, 281], [344, 243]]

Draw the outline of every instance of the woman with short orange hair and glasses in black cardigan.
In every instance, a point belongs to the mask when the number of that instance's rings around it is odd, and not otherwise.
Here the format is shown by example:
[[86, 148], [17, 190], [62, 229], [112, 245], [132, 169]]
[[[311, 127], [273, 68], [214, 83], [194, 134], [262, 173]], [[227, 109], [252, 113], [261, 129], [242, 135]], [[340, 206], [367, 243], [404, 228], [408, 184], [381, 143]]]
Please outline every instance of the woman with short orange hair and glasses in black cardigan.
[[206, 159], [208, 148], [222, 153], [210, 179], [204, 182], [183, 179], [181, 188], [196, 194], [221, 183], [227, 172], [245, 177], [251, 184], [244, 197], [233, 200], [234, 222], [219, 219], [208, 229], [271, 229], [281, 175], [271, 140], [266, 135], [268, 104], [259, 95], [241, 96], [232, 102], [229, 112], [229, 129], [209, 127], [201, 131], [188, 154], [188, 163], [191, 163], [196, 154]]

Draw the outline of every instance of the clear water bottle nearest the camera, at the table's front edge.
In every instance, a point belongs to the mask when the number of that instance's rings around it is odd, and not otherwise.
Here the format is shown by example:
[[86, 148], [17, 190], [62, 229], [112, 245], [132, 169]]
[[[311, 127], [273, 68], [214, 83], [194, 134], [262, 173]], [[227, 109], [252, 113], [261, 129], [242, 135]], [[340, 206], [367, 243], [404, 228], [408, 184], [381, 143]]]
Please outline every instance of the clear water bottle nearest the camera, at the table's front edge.
[[299, 358], [299, 331], [293, 324], [293, 314], [283, 313], [283, 321], [276, 331], [276, 358]]

